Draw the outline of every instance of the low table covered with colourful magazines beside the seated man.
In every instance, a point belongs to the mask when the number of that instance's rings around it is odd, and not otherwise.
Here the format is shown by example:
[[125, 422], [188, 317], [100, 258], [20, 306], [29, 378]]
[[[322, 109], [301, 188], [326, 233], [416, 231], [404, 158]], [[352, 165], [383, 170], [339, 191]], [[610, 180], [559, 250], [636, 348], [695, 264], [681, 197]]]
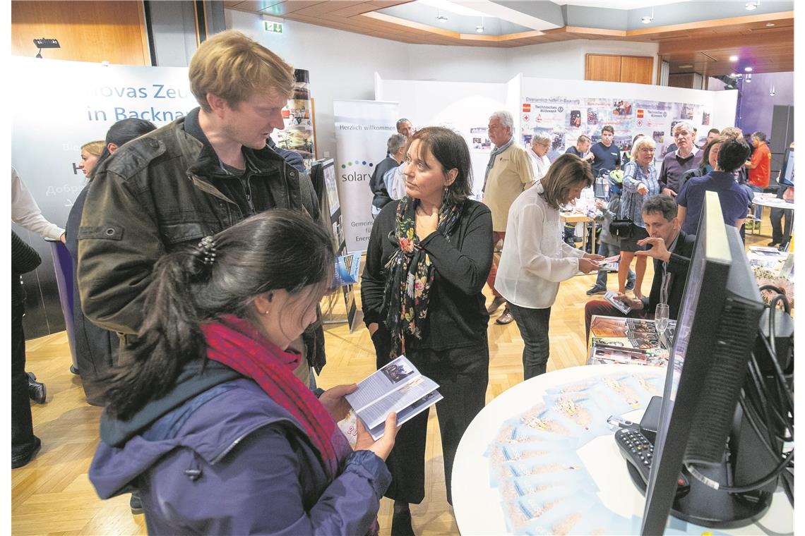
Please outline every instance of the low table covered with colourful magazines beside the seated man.
[[653, 320], [592, 315], [588, 365], [624, 363], [666, 366], [676, 322], [658, 333]]

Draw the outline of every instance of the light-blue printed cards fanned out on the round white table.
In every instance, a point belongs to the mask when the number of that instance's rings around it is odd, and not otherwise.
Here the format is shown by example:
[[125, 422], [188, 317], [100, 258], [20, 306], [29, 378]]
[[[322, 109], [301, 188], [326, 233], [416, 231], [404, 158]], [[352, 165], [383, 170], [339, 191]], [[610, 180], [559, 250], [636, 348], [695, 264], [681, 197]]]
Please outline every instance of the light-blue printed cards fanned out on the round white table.
[[613, 433], [607, 418], [646, 407], [663, 393], [662, 374], [610, 374], [546, 391], [509, 419], [486, 455], [490, 485], [501, 493], [509, 534], [637, 534], [639, 518], [601, 504], [576, 451]]

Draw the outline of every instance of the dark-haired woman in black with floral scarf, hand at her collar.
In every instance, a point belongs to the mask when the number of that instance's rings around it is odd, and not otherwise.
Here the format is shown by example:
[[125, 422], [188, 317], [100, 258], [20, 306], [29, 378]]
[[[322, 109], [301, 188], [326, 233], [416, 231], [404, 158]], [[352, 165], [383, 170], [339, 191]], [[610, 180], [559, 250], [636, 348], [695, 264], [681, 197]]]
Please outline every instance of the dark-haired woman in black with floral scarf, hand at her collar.
[[[484, 407], [489, 381], [492, 215], [470, 200], [469, 149], [450, 129], [427, 127], [405, 153], [406, 196], [374, 220], [361, 279], [364, 321], [378, 369], [405, 353], [440, 385], [436, 403], [448, 502], [459, 440]], [[427, 411], [403, 424], [387, 464], [394, 499], [392, 534], [412, 534], [409, 503], [425, 495]]]

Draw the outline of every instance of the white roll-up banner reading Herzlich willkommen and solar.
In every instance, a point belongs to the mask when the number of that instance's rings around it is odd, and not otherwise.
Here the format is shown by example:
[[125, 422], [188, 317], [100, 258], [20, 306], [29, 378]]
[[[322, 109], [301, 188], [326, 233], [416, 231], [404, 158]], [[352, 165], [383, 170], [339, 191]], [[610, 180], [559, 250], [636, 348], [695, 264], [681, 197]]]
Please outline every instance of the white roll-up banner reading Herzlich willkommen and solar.
[[365, 251], [372, 232], [374, 166], [386, 158], [386, 142], [397, 133], [396, 102], [333, 100], [336, 122], [336, 179], [347, 251]]

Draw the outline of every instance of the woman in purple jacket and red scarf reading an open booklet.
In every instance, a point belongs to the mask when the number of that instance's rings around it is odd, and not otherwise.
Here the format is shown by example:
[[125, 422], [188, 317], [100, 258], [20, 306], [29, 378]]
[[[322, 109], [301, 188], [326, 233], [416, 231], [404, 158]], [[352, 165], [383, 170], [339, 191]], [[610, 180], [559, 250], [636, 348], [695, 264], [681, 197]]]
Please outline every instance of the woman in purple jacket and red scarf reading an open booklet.
[[89, 479], [138, 489], [149, 534], [376, 534], [395, 415], [357, 450], [336, 426], [357, 386], [316, 398], [288, 346], [334, 269], [307, 215], [262, 212], [163, 256], [107, 406]]

